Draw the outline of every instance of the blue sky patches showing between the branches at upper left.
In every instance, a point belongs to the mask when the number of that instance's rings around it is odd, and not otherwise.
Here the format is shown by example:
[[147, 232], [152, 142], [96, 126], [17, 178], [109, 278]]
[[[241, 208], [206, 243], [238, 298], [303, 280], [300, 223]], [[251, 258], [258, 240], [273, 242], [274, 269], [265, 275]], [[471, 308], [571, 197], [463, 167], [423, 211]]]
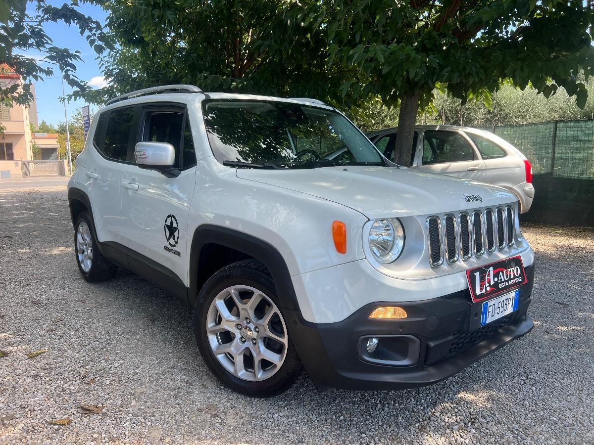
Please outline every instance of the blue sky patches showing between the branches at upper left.
[[[49, 4], [55, 6], [61, 6], [64, 1], [48, 1]], [[31, 8], [31, 4], [29, 4]], [[32, 9], [32, 8], [31, 8]], [[83, 14], [93, 17], [94, 20], [100, 23], [105, 23], [106, 12], [102, 8], [96, 5], [81, 4], [80, 7]], [[34, 14], [34, 9], [29, 11], [31, 15]], [[62, 22], [58, 23], [46, 23], [44, 29], [48, 36], [53, 40], [53, 45], [59, 47], [65, 47], [70, 50], [78, 50], [81, 52], [81, 58], [83, 62], [76, 63], [77, 70], [75, 74], [81, 81], [94, 81], [91, 82], [91, 86], [97, 87], [100, 85], [102, 79], [101, 72], [99, 70], [99, 64], [95, 60], [97, 54], [87, 43], [87, 40], [78, 33], [78, 27], [68, 26]], [[33, 56], [36, 59], [43, 58], [40, 53], [35, 53], [33, 50], [24, 52], [27, 55]], [[60, 103], [60, 97], [62, 96], [62, 82], [60, 80], [59, 69], [54, 69], [54, 77], [46, 78], [43, 82], [37, 82], [35, 84], [35, 90], [37, 93], [37, 117], [39, 122], [45, 119], [48, 123], [56, 124], [64, 121], [64, 105]], [[66, 94], [71, 93], [72, 89], [68, 87], [68, 84], [64, 84], [66, 88]], [[78, 107], [86, 105], [83, 100], [67, 102], [68, 118], [75, 112]], [[93, 109], [93, 106], [91, 106]]]

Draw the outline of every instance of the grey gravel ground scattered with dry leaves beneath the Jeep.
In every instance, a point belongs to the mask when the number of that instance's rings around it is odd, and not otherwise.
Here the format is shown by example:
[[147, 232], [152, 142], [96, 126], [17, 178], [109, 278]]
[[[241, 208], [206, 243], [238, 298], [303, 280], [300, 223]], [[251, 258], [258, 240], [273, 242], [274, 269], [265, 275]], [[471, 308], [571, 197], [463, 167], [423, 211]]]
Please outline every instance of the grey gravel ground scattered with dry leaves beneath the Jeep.
[[522, 339], [431, 387], [254, 400], [213, 380], [173, 297], [80, 278], [64, 186], [0, 190], [0, 443], [594, 443], [594, 231], [524, 231]]

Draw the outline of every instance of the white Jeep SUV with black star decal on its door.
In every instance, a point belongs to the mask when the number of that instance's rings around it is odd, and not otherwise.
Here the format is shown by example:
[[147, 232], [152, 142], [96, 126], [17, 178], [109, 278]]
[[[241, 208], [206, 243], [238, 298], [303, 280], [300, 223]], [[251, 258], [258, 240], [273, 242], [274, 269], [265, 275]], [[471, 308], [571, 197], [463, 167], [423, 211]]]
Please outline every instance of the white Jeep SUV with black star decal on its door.
[[516, 196], [396, 166], [320, 101], [115, 98], [68, 199], [83, 278], [121, 266], [177, 295], [208, 368], [250, 396], [302, 367], [318, 387], [423, 386], [533, 326]]

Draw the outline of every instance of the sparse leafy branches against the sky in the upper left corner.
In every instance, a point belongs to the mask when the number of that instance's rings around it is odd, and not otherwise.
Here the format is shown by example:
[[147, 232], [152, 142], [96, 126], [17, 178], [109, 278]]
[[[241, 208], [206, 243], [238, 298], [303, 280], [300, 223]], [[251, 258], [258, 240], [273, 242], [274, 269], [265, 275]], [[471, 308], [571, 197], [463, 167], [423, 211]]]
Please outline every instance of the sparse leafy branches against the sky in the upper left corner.
[[[36, 12], [33, 15], [26, 12], [28, 2], [35, 5]], [[53, 45], [52, 39], [43, 29], [44, 24], [50, 21], [78, 26], [80, 34], [86, 36], [98, 54], [106, 48], [113, 49], [103, 34], [101, 24], [78, 11], [77, 0], [64, 3], [61, 7], [50, 5], [46, 0], [0, 0], [0, 63], [8, 65], [24, 81], [22, 88], [20, 82], [9, 82], [5, 87], [0, 87], [0, 101], [28, 104], [33, 100], [31, 82], [55, 75], [54, 68], [46, 68], [35, 58], [23, 55], [31, 50], [42, 53], [46, 62], [62, 71], [64, 80], [71, 87], [79, 91], [89, 89], [74, 75], [75, 63], [82, 61], [80, 52]]]

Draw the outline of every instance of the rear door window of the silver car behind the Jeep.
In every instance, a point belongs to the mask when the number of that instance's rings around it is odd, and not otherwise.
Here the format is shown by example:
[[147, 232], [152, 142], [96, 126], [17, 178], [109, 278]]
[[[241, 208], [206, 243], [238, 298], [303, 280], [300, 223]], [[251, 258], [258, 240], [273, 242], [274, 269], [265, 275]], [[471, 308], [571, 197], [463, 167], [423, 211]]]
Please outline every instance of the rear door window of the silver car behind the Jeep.
[[423, 165], [472, 161], [475, 151], [468, 141], [453, 131], [425, 131]]

